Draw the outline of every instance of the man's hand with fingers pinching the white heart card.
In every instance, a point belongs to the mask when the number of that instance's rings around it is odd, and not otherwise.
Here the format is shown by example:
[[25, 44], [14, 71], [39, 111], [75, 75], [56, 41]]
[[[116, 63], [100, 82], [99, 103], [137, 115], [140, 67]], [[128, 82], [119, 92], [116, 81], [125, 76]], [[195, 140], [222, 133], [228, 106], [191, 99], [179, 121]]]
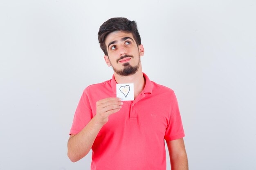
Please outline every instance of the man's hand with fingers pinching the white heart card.
[[121, 99], [118, 97], [99, 100], [96, 102], [96, 115], [94, 116], [94, 119], [99, 124], [106, 124], [108, 122], [108, 117], [113, 113], [118, 112], [122, 107], [121, 105], [123, 105], [123, 102], [121, 102]]

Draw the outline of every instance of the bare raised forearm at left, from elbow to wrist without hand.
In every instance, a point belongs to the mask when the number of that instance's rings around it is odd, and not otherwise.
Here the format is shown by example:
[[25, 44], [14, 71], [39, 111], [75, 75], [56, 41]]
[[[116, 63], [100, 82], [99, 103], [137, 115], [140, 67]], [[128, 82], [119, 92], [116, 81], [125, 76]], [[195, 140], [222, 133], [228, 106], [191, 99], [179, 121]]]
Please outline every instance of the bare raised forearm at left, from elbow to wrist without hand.
[[70, 137], [67, 143], [67, 156], [72, 162], [79, 161], [88, 154], [102, 126], [92, 118], [83, 130]]

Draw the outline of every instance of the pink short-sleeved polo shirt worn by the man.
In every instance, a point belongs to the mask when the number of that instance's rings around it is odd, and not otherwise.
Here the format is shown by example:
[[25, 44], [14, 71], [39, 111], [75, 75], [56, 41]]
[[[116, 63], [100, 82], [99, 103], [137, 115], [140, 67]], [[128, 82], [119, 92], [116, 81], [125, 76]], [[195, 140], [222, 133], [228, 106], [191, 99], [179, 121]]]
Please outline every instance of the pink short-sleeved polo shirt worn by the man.
[[[166, 170], [167, 141], [184, 137], [176, 96], [170, 88], [146, 79], [134, 101], [123, 101], [110, 115], [92, 146], [91, 170]], [[96, 102], [116, 97], [115, 77], [85, 88], [70, 134], [79, 133], [96, 114]]]

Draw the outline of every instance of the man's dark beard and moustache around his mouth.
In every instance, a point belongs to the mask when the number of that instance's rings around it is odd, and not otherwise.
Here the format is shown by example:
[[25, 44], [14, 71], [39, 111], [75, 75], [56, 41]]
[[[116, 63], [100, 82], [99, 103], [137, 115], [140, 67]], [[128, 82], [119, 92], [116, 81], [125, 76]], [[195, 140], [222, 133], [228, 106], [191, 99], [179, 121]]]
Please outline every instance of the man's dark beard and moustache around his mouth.
[[[123, 59], [125, 57], [133, 58], [132, 55], [124, 55], [124, 56], [120, 57], [120, 59], [117, 60], [117, 63], [118, 63], [119, 60], [121, 60], [121, 59]], [[112, 68], [115, 71], [115, 73], [117, 73], [118, 75], [128, 76], [128, 75], [135, 74], [139, 70], [139, 64], [140, 64], [140, 56], [139, 56], [139, 62], [138, 62], [138, 64], [136, 66], [131, 66], [130, 63], [127, 62], [127, 63], [123, 64], [124, 68], [121, 69], [121, 70], [117, 70], [113, 66], [112, 66]]]

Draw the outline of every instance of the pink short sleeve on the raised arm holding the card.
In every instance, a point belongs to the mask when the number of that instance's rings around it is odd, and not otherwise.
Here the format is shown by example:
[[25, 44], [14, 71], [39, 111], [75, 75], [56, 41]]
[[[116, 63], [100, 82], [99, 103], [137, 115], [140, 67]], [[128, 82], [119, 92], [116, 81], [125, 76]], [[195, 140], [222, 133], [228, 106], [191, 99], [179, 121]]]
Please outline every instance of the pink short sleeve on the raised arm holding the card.
[[70, 134], [79, 133], [92, 119], [92, 109], [88, 99], [87, 89], [83, 91], [73, 119]]

